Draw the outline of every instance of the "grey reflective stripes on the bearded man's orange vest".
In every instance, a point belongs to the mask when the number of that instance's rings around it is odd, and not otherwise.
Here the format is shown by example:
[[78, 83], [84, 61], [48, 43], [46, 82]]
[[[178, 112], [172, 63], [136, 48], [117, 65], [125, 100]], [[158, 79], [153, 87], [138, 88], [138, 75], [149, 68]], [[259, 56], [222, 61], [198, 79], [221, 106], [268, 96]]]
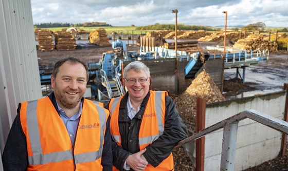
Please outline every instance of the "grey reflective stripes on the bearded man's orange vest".
[[[46, 97], [48, 98], [48, 97]], [[84, 100], [85, 101], [85, 100]], [[93, 101], [92, 101], [93, 102]], [[99, 113], [99, 122], [101, 125], [101, 138], [100, 138], [100, 147], [97, 151], [92, 151], [89, 153], [81, 153], [75, 155], [75, 164], [95, 161], [102, 156], [103, 151], [103, 140], [104, 140], [104, 130], [106, 125], [106, 113], [104, 108], [100, 107], [97, 102], [94, 102], [98, 113]], [[64, 160], [73, 159], [72, 151], [65, 150], [65, 151], [57, 151], [49, 154], [42, 153], [42, 145], [40, 141], [40, 130], [38, 126], [38, 118], [37, 118], [37, 106], [38, 101], [30, 101], [27, 105], [27, 129], [29, 134], [29, 140], [31, 143], [31, 149], [33, 156], [28, 156], [28, 162], [30, 165], [38, 165], [38, 164], [47, 164], [50, 162], [60, 162]]]

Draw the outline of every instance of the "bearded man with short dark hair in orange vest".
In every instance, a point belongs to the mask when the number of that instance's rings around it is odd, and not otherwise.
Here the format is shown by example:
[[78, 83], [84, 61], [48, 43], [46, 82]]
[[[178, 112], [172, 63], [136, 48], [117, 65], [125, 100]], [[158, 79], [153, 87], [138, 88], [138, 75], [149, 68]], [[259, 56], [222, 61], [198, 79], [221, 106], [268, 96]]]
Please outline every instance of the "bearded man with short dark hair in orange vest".
[[112, 170], [109, 110], [83, 98], [88, 66], [58, 61], [53, 92], [22, 102], [3, 151], [4, 170]]

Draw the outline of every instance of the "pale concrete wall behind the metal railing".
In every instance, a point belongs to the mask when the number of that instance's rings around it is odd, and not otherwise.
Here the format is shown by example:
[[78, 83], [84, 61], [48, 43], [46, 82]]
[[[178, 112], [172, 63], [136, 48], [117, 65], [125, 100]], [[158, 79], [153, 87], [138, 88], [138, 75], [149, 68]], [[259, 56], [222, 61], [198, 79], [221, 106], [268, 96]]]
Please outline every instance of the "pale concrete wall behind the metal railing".
[[[286, 92], [209, 104], [206, 106], [205, 127], [211, 126], [247, 109], [255, 109], [283, 119]], [[204, 169], [220, 170], [223, 129], [205, 136]], [[280, 152], [281, 132], [251, 119], [238, 124], [235, 169], [244, 170], [274, 159]]]

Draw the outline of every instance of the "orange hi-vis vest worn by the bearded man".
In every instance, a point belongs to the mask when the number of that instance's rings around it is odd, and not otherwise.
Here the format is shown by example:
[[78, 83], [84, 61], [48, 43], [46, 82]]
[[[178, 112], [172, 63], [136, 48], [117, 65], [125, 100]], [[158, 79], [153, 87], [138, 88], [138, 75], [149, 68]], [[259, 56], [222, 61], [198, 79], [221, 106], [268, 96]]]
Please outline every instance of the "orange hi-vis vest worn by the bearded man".
[[84, 99], [74, 149], [51, 100], [23, 102], [20, 121], [28, 150], [27, 170], [102, 170], [101, 156], [109, 111]]

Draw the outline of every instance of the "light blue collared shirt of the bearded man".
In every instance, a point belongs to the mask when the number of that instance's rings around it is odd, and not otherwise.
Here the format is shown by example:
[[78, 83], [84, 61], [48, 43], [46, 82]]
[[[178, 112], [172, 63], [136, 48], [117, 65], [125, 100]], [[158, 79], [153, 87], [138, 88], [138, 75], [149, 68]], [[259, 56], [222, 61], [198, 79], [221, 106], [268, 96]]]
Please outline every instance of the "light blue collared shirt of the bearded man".
[[72, 145], [74, 146], [74, 141], [75, 141], [75, 137], [76, 137], [76, 132], [77, 132], [77, 128], [78, 128], [78, 123], [80, 121], [80, 116], [81, 116], [81, 113], [82, 113], [82, 101], [80, 101], [80, 108], [79, 108], [79, 111], [78, 113], [75, 113], [74, 116], [72, 116], [71, 118], [69, 118], [67, 115], [66, 115], [66, 111], [63, 110], [58, 102], [57, 102], [57, 106], [58, 106], [58, 109], [59, 109], [59, 114], [60, 114], [60, 117], [68, 131], [68, 134], [69, 134], [69, 137], [70, 137], [70, 140], [71, 140], [71, 143]]

